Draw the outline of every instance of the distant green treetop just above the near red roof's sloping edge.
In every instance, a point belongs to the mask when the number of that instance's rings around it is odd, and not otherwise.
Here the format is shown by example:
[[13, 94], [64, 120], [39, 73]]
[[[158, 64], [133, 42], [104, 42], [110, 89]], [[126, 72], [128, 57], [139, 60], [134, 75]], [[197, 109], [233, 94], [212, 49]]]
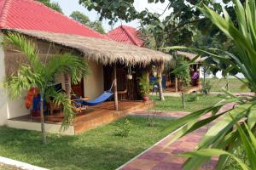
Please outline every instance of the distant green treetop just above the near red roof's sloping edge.
[[77, 20], [79, 21], [81, 24], [85, 25], [85, 26], [89, 26], [90, 28], [92, 28], [95, 31], [98, 31], [102, 34], [105, 34], [105, 30], [102, 26], [102, 22], [101, 21], [90, 21], [89, 17], [86, 16], [83, 13], [80, 13], [79, 11], [73, 11], [73, 13], [70, 15], [71, 18], [73, 18], [73, 20]]

